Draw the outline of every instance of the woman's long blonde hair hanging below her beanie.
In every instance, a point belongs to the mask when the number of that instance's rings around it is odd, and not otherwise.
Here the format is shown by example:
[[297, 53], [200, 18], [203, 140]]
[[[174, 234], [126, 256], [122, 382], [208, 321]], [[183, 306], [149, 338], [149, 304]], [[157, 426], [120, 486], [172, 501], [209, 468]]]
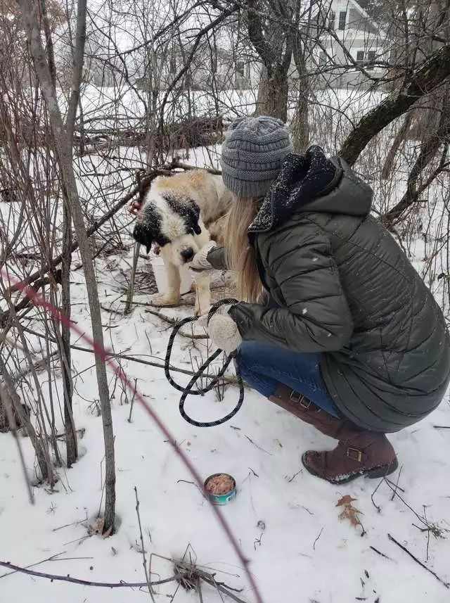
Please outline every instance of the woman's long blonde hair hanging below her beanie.
[[227, 265], [236, 272], [238, 298], [249, 303], [255, 303], [262, 293], [255, 249], [248, 240], [248, 227], [260, 202], [260, 198], [236, 197], [226, 224]]

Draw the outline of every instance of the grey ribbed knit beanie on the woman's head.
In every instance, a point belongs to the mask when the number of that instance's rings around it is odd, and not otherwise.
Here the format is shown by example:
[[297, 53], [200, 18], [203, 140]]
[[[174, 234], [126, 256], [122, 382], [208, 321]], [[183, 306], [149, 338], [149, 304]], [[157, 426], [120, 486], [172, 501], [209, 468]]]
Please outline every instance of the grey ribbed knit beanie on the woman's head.
[[281, 120], [261, 115], [238, 118], [225, 133], [221, 167], [224, 184], [239, 197], [260, 197], [269, 191], [283, 159], [293, 152]]

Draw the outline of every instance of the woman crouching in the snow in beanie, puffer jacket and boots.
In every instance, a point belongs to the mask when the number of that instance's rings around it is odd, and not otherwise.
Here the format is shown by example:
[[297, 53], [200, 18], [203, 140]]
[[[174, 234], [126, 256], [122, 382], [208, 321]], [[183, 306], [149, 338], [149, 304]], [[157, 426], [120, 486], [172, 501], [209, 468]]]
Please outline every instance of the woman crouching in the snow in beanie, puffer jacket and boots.
[[[238, 296], [210, 320], [218, 348], [238, 350], [243, 379], [338, 440], [304, 452], [331, 483], [397, 469], [385, 433], [432, 412], [446, 391], [444, 317], [392, 236], [370, 214], [372, 191], [339, 158], [292, 152], [282, 122], [233, 123], [222, 146], [236, 196], [227, 266]], [[208, 246], [193, 269], [224, 267]], [[262, 293], [266, 301], [262, 303]]]

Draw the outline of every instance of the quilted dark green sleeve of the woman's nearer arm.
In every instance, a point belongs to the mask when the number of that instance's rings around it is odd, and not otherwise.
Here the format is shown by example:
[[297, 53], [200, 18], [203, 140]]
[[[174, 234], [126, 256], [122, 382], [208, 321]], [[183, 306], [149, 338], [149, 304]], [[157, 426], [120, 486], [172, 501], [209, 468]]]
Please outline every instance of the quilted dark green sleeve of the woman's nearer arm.
[[230, 314], [243, 339], [296, 352], [343, 348], [352, 336], [353, 321], [326, 234], [305, 220], [259, 237], [267, 281], [276, 290], [271, 292], [285, 305], [234, 306]]

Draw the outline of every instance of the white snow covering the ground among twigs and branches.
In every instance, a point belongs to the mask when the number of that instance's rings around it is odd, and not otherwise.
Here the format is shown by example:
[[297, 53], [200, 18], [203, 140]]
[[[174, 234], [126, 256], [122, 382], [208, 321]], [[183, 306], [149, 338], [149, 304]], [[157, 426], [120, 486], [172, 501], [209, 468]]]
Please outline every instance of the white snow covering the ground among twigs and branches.
[[[94, 107], [98, 101], [93, 97], [89, 102]], [[351, 99], [348, 102], [351, 103]], [[127, 153], [130, 161], [139, 159], [137, 151], [122, 151]], [[196, 149], [190, 152], [189, 160], [203, 165], [209, 162], [211, 153], [217, 158], [219, 151], [219, 146]], [[380, 202], [379, 183], [371, 184], [375, 186], [377, 202]], [[398, 170], [393, 184], [396, 196], [401, 193], [401, 186], [404, 181], [402, 183], [401, 170]], [[89, 191], [84, 193], [87, 197]], [[0, 203], [5, 217], [10, 207]], [[101, 213], [99, 208], [98, 212]], [[426, 272], [423, 260], [434, 243], [425, 243], [416, 237], [405, 244], [415, 258], [416, 267], [420, 272]], [[130, 250], [127, 255], [113, 260], [96, 260], [103, 307], [122, 312], [121, 270], [129, 270], [131, 253]], [[77, 254], [73, 260], [75, 267], [79, 262]], [[438, 271], [439, 267], [435, 273]], [[82, 272], [74, 270], [72, 281], [75, 281], [72, 319], [89, 333], [89, 307]], [[439, 299], [438, 283], [428, 284], [435, 287]], [[146, 301], [147, 298], [142, 296], [136, 300]], [[191, 315], [192, 311], [191, 306], [164, 310], [172, 317]], [[163, 362], [170, 331], [165, 322], [146, 313], [145, 307], [136, 306], [127, 317], [103, 310], [103, 324], [105, 345], [114, 348], [115, 353], [127, 350], [128, 355]], [[203, 341], [196, 341], [196, 344], [205, 355]], [[174, 365], [191, 369], [189, 346], [186, 339], [176, 341]], [[97, 396], [94, 357], [73, 350], [73, 364], [78, 374], [75, 378], [75, 424], [77, 429], [85, 429], [84, 437], [79, 440], [80, 459], [72, 469], [58, 469], [60, 481], [53, 492], [44, 487], [33, 488], [34, 506], [27, 500], [14, 440], [11, 434], [0, 434], [0, 559], [27, 566], [60, 554], [62, 560], [46, 561], [33, 569], [86, 580], [145, 581], [135, 511], [136, 486], [147, 557], [150, 553], [181, 557], [190, 543], [198, 564], [217, 572], [217, 580], [233, 588], [243, 588], [238, 596], [245, 602], [255, 600], [245, 580], [245, 572], [238, 566], [236, 554], [209, 504], [195, 485], [180, 481], [191, 481], [192, 478], [139, 404], [134, 405], [131, 423], [127, 420], [130, 405], [124, 403], [126, 400], [120, 387], [114, 388], [112, 374], [117, 531], [104, 540], [98, 536], [86, 537], [86, 525], [96, 517], [101, 506], [103, 431], [101, 418], [93, 412], [95, 405], [92, 404]], [[254, 391], [245, 391], [243, 407], [229, 423], [212, 429], [194, 428], [181, 418], [179, 393], [169, 385], [162, 369], [127, 360], [122, 360], [122, 368], [131, 381], [138, 380], [139, 391], [169, 426], [177, 443], [204, 478], [224, 471], [236, 479], [238, 495], [221, 510], [245, 557], [250, 560], [250, 571], [265, 603], [449, 601], [449, 590], [387, 536], [391, 534], [444, 582], [450, 582], [450, 540], [447, 538], [450, 533], [446, 532], [450, 529], [450, 429], [435, 428], [450, 426], [449, 395], [430, 417], [390, 436], [401, 468], [390, 478], [394, 484], [399, 480], [402, 501], [397, 496], [392, 497], [392, 489], [384, 481], [358, 478], [352, 483], [335, 486], [307, 474], [302, 468], [302, 453], [332, 448], [333, 440], [271, 405]], [[174, 377], [181, 383], [187, 383], [189, 379], [180, 374], [174, 374]], [[48, 399], [46, 374], [39, 378], [44, 397]], [[58, 388], [61, 391], [60, 379]], [[229, 386], [224, 402], [218, 402], [213, 392], [204, 398], [188, 398], [186, 412], [195, 419], [217, 419], [227, 414], [237, 399], [237, 388]], [[58, 427], [60, 430], [60, 417]], [[21, 438], [20, 443], [25, 452], [27, 471], [34, 476], [35, 459], [30, 441]], [[363, 536], [361, 527], [355, 528], [348, 521], [338, 519], [341, 509], [336, 504], [344, 495], [356, 499], [354, 506], [361, 511]], [[423, 526], [413, 511], [420, 516], [426, 513], [428, 521], [437, 524], [444, 536], [430, 535], [428, 561], [428, 533], [413, 526]], [[86, 517], [88, 522], [84, 521]], [[172, 574], [170, 564], [162, 559], [153, 558], [152, 568], [155, 579]], [[0, 576], [7, 571], [0, 568]], [[161, 587], [158, 592], [173, 593], [173, 583]], [[20, 573], [1, 578], [0, 603], [11, 603], [18, 597], [23, 603], [134, 603], [148, 595], [138, 589], [110, 590], [51, 583]], [[204, 588], [203, 598], [205, 603], [221, 601], [212, 588]], [[157, 597], [156, 600], [170, 599]], [[198, 601], [198, 597], [179, 590], [174, 600], [192, 603]]]

